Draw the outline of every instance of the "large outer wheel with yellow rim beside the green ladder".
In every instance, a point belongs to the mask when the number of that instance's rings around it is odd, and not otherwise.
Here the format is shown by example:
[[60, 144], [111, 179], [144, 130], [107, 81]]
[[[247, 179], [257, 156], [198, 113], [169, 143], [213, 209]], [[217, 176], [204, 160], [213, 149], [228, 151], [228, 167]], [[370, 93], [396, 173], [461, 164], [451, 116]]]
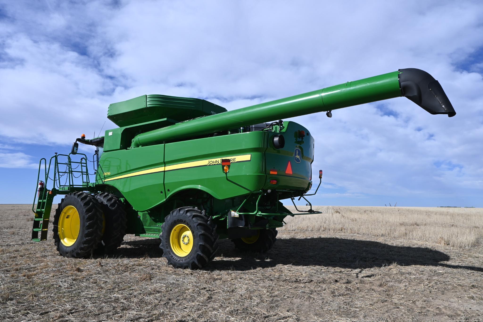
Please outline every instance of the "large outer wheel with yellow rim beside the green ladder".
[[102, 238], [102, 222], [102, 210], [92, 195], [74, 192], [65, 196], [52, 228], [57, 251], [64, 257], [91, 255]]

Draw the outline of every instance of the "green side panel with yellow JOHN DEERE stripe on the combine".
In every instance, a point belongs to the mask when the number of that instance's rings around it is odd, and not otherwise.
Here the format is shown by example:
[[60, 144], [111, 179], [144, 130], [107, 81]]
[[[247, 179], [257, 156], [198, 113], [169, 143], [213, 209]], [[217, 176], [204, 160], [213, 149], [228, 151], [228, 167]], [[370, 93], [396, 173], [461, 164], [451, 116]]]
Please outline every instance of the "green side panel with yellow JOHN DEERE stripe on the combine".
[[266, 185], [267, 132], [247, 132], [104, 152], [97, 184], [114, 186], [137, 211], [163, 203], [185, 189], [217, 199], [248, 194], [228, 182], [221, 159], [232, 160], [228, 177], [250, 190]]

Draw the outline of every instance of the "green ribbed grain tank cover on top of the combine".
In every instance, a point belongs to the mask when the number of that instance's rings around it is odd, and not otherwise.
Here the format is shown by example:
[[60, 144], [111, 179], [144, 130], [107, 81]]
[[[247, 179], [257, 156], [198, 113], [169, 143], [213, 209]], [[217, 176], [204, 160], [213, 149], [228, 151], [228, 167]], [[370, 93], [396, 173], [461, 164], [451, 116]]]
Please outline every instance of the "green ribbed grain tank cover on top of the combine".
[[131, 126], [162, 118], [181, 122], [222, 112], [227, 110], [204, 99], [143, 95], [110, 104], [107, 118], [117, 126]]

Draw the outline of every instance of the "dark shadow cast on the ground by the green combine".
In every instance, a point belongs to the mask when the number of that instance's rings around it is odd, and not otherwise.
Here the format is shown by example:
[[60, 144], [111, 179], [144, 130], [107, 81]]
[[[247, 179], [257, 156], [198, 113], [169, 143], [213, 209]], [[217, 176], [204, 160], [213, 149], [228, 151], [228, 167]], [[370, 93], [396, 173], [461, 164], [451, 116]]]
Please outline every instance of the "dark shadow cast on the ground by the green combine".
[[[159, 241], [126, 241], [115, 257], [161, 257]], [[266, 254], [239, 252], [230, 240], [219, 241], [217, 258], [206, 270], [251, 270], [282, 265], [328, 266], [334, 268], [366, 269], [393, 264], [400, 266], [443, 266], [483, 272], [483, 267], [448, 265], [444, 252], [425, 247], [394, 246], [377, 241], [345, 238], [279, 238]]]

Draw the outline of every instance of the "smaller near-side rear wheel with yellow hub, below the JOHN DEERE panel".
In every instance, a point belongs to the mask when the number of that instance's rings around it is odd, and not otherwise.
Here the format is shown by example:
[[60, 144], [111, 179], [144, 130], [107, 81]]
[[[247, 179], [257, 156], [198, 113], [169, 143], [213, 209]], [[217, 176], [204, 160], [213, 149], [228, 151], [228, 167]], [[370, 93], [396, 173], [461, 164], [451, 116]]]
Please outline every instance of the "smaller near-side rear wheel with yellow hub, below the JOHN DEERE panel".
[[163, 257], [175, 268], [199, 269], [210, 263], [218, 250], [213, 219], [191, 207], [175, 209], [161, 225]]

